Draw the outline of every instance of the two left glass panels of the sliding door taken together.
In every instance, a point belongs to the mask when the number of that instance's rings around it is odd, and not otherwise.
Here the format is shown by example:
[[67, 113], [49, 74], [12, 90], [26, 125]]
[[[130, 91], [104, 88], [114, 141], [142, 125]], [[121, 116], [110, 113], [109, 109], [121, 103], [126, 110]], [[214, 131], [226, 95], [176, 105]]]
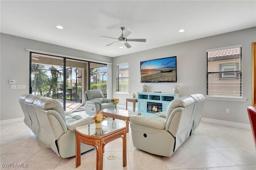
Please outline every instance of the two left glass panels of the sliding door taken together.
[[30, 75], [31, 94], [57, 99], [65, 111], [84, 110], [82, 94], [88, 87], [87, 61], [31, 53]]

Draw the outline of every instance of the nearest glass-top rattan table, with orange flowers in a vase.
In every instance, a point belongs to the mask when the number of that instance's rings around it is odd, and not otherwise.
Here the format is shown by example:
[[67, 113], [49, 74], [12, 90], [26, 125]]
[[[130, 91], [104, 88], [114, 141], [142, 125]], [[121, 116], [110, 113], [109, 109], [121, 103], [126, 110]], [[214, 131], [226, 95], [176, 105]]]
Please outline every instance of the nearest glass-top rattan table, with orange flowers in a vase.
[[[102, 128], [96, 128], [95, 123], [76, 127], [76, 168], [81, 165], [81, 142], [96, 149], [96, 170], [103, 169], [104, 146], [117, 138], [123, 139], [123, 167], [126, 166], [126, 126], [103, 121]], [[98, 148], [95, 146], [97, 145]]]

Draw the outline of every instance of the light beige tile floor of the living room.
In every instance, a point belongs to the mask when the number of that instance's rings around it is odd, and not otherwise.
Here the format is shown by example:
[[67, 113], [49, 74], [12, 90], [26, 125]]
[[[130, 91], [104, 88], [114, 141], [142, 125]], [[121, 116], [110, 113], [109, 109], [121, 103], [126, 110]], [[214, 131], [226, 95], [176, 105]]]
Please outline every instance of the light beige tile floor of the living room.
[[[38, 146], [37, 136], [24, 122], [1, 125], [0, 128], [0, 169], [96, 169], [95, 150], [82, 154], [81, 166], [76, 168], [75, 156], [62, 159], [51, 149]], [[119, 138], [105, 147], [104, 170], [256, 170], [256, 149], [249, 129], [201, 122], [170, 158], [134, 148], [131, 133], [127, 135], [127, 166], [122, 167], [122, 139]], [[108, 160], [109, 154], [116, 155], [116, 159]], [[6, 168], [5, 163], [23, 163], [27, 167]]]

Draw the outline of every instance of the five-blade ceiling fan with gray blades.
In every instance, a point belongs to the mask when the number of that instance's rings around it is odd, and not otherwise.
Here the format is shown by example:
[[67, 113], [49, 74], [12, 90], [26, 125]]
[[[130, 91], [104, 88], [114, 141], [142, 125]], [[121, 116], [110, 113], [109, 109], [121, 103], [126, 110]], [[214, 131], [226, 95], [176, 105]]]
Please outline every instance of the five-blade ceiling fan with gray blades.
[[[107, 37], [107, 36], [100, 36], [100, 37], [106, 37], [106, 38], [112, 38], [116, 39], [116, 42], [119, 42], [120, 44], [124, 44], [127, 48], [132, 47], [128, 42], [146, 42], [146, 39], [128, 39], [127, 37], [132, 33], [128, 30], [125, 30], [125, 27], [120, 27], [122, 34], [119, 38], [113, 38], [113, 37]], [[113, 43], [116, 43], [113, 42]], [[110, 43], [106, 46], [112, 45], [113, 43]]]

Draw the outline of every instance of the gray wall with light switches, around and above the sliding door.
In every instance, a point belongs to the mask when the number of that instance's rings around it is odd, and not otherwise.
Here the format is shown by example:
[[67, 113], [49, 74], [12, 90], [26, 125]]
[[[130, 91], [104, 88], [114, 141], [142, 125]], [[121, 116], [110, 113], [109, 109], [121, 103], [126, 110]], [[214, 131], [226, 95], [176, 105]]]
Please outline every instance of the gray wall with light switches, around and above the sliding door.
[[[38, 42], [8, 34], [0, 34], [0, 120], [24, 117], [18, 102], [20, 95], [29, 93], [29, 51], [34, 49], [49, 53], [79, 57], [112, 63], [112, 57], [66, 48], [50, 43]], [[26, 89], [11, 89], [9, 79], [16, 85], [26, 85]]]

